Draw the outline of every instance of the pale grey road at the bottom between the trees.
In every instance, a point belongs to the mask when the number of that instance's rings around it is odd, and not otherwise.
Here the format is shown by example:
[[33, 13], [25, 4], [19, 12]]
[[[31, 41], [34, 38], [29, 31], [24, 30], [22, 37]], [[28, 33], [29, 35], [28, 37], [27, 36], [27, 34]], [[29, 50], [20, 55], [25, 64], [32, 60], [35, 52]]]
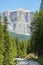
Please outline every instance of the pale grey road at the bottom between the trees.
[[26, 60], [26, 59], [18, 59], [18, 64], [16, 65], [40, 65], [38, 62], [34, 60]]

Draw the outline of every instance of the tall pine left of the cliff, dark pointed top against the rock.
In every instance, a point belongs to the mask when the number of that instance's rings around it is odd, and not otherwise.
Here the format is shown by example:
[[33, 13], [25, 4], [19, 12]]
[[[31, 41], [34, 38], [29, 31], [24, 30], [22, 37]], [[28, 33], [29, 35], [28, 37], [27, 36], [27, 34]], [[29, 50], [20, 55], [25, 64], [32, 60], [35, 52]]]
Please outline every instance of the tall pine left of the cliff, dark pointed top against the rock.
[[5, 51], [3, 53], [4, 55], [4, 61], [3, 61], [3, 65], [10, 65], [11, 64], [11, 38], [10, 38], [10, 34], [7, 30], [7, 25], [8, 25], [8, 21], [7, 21], [7, 17], [4, 18], [4, 48]]

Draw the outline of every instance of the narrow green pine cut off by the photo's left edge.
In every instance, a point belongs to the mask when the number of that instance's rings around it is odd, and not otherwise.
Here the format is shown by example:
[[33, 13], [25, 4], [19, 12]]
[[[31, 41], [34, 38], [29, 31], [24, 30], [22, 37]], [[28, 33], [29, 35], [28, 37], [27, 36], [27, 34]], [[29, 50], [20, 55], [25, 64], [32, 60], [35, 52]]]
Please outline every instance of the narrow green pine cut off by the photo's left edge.
[[0, 16], [0, 65], [3, 65], [3, 53], [4, 53], [4, 33]]

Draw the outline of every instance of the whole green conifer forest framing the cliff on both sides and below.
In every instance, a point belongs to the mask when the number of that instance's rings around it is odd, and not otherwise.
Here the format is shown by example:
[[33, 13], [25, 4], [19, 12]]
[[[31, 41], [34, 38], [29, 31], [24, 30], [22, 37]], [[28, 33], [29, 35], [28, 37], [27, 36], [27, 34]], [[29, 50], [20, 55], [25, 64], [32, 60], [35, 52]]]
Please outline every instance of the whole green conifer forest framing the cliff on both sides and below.
[[8, 25], [7, 17], [2, 24], [0, 16], [0, 65], [15, 65], [15, 58], [29, 59], [30, 53], [37, 56], [37, 59], [32, 56], [31, 59], [36, 59], [43, 65], [43, 0], [40, 10], [34, 13], [28, 41], [20, 41], [17, 37], [12, 37], [8, 31]]

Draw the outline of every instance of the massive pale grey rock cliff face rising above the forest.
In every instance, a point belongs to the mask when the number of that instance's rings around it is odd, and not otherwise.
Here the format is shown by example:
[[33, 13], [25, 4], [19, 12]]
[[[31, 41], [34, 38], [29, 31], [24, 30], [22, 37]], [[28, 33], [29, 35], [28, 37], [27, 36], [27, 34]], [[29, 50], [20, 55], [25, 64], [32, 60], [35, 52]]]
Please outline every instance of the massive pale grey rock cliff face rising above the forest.
[[13, 31], [17, 34], [30, 34], [30, 23], [33, 20], [33, 12], [17, 9], [15, 11], [6, 11], [2, 13], [2, 20], [7, 16], [10, 23], [8, 25], [9, 31]]

